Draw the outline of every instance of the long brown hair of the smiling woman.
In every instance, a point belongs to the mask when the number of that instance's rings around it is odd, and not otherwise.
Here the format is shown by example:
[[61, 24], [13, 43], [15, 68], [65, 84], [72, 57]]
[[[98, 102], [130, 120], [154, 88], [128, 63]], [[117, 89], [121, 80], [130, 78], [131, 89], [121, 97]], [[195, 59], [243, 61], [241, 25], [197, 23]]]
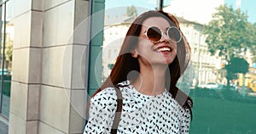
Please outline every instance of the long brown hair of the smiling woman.
[[[137, 72], [140, 72], [138, 61], [131, 56], [131, 52], [135, 47], [137, 47], [137, 36], [140, 34], [143, 21], [149, 17], [162, 17], [166, 19], [170, 25], [175, 25], [177, 29], [180, 30], [177, 19], [172, 14], [167, 14], [163, 11], [148, 11], [138, 16], [127, 31], [125, 41], [122, 44], [119, 56], [113, 65], [113, 70], [111, 71], [108, 79], [104, 81], [102, 87], [100, 87], [93, 96], [95, 96], [96, 93], [101, 92], [106, 87], [113, 87], [119, 82], [126, 81], [127, 75], [131, 71], [136, 70]], [[181, 34], [183, 36], [182, 32]], [[172, 64], [169, 64], [169, 68], [167, 69], [169, 71], [166, 71], [166, 89], [172, 93], [172, 97], [177, 100], [177, 103], [179, 103], [184, 109], [189, 109], [192, 117], [192, 99], [176, 87], [179, 77], [183, 74], [189, 64], [189, 59], [189, 42], [187, 42], [187, 39], [183, 36], [181, 42], [177, 43], [176, 58], [173, 60]], [[134, 81], [136, 78], [137, 75], [130, 77], [129, 79], [131, 79], [130, 81]]]

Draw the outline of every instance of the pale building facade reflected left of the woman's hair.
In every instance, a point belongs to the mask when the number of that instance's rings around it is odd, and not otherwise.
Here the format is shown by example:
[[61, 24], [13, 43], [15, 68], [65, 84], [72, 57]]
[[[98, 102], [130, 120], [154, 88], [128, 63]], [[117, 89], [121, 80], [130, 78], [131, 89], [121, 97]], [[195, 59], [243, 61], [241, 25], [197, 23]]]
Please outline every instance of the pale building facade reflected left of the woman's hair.
[[119, 55], [120, 47], [124, 42], [126, 32], [133, 20], [134, 17], [127, 17], [125, 15], [114, 18], [105, 17], [102, 48], [103, 80], [110, 74], [115, 59]]

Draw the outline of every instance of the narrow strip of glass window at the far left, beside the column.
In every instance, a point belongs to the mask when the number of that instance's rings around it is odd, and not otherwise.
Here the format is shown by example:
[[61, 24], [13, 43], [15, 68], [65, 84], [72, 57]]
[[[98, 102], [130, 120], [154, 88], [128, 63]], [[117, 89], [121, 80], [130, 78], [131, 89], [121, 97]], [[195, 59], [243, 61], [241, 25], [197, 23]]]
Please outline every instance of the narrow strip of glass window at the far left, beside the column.
[[12, 53], [14, 45], [14, 25], [12, 23], [13, 18], [13, 4], [12, 1], [3, 3], [1, 5], [1, 27], [2, 31], [1, 42], [1, 63], [0, 63], [0, 91], [1, 91], [1, 103], [0, 113], [9, 118], [9, 98], [10, 98], [10, 86], [12, 75]]

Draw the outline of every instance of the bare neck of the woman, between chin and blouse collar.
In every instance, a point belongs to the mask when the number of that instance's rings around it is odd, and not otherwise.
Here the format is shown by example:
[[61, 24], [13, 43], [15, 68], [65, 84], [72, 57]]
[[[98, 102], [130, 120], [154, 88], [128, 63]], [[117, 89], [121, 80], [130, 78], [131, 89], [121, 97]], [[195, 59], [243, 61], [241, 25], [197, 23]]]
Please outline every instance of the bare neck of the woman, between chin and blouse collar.
[[166, 66], [141, 66], [140, 75], [132, 85], [146, 95], [158, 95], [165, 91]]

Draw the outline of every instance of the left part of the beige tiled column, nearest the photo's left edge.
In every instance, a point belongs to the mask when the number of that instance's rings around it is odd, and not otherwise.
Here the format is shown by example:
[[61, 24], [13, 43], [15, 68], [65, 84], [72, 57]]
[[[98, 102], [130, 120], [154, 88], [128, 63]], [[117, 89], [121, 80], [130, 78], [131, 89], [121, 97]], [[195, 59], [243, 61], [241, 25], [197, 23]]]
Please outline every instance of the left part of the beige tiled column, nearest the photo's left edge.
[[37, 133], [42, 66], [43, 2], [13, 0], [15, 39], [9, 134]]

